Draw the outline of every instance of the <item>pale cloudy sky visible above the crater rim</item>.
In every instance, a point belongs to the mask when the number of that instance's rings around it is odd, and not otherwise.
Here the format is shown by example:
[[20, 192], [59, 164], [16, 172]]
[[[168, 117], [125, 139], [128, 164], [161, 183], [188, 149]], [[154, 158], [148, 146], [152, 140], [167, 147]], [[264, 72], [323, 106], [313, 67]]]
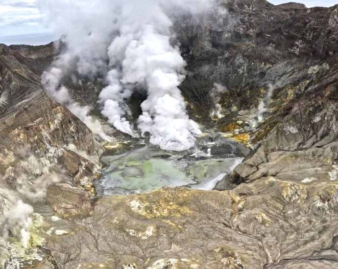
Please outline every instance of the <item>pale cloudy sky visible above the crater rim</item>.
[[[281, 4], [292, 0], [268, 0]], [[307, 7], [333, 6], [338, 0], [293, 0]], [[59, 37], [48, 28], [36, 0], [0, 0], [0, 43], [43, 45]]]

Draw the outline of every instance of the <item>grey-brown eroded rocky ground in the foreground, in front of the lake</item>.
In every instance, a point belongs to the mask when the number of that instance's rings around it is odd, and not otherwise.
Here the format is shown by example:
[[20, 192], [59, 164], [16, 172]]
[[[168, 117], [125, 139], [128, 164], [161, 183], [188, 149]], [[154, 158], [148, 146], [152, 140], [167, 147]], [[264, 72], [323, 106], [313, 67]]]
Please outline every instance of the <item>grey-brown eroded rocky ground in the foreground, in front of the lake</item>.
[[336, 268], [337, 190], [269, 177], [107, 196], [82, 220], [45, 217], [43, 236], [61, 268]]

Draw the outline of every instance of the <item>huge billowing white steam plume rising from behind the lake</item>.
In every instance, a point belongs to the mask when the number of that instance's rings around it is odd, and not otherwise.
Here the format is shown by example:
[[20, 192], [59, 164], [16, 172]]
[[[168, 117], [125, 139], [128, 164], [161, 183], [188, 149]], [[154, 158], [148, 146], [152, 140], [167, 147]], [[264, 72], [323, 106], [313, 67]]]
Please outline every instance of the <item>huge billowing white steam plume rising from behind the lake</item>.
[[[171, 15], [205, 11], [211, 1], [41, 0], [48, 21], [65, 34], [67, 44], [54, 67], [44, 74], [46, 89], [59, 102], [73, 104], [69, 91], [60, 87], [66, 72], [73, 68], [84, 75], [105, 74], [107, 86], [98, 100], [102, 114], [116, 129], [136, 136], [125, 118], [125, 101], [133, 89], [143, 88], [148, 96], [138, 119], [141, 133], [149, 132], [150, 142], [162, 149], [189, 149], [200, 131], [189, 119], [178, 89], [186, 63], [179, 47], [172, 45]], [[81, 111], [78, 105], [77, 109]], [[78, 110], [73, 111], [87, 120], [88, 109]]]

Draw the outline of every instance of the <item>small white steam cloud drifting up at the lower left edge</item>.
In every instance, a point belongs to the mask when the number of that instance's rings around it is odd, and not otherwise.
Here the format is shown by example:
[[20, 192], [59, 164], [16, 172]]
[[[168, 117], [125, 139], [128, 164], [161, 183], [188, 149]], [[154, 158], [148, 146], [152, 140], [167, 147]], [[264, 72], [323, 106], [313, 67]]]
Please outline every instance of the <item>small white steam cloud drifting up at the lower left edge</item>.
[[[42, 202], [48, 186], [61, 181], [60, 176], [50, 171], [51, 163], [46, 158], [31, 155], [27, 148], [19, 150], [18, 154], [22, 159], [17, 163], [16, 173], [13, 167], [6, 171], [13, 177], [16, 175], [16, 188], [8, 189], [0, 184], [0, 248], [7, 245], [10, 235], [20, 239], [22, 247], [30, 247], [33, 207], [29, 203]], [[52, 154], [55, 156], [55, 152]], [[0, 267], [6, 254], [0, 251]]]

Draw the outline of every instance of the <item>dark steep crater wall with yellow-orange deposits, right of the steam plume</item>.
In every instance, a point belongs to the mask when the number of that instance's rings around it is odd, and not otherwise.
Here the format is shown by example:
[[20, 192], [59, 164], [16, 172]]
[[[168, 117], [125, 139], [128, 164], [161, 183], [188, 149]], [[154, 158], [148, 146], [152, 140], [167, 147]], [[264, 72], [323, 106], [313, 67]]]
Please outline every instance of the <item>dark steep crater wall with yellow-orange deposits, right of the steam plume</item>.
[[225, 86], [223, 115], [215, 123], [223, 132], [247, 134], [251, 144], [258, 144], [292, 100], [336, 68], [338, 7], [220, 2], [214, 11], [179, 18], [174, 25], [188, 63], [180, 88], [195, 119], [210, 122], [214, 103], [209, 92], [215, 82]]

